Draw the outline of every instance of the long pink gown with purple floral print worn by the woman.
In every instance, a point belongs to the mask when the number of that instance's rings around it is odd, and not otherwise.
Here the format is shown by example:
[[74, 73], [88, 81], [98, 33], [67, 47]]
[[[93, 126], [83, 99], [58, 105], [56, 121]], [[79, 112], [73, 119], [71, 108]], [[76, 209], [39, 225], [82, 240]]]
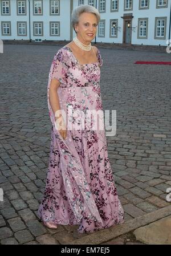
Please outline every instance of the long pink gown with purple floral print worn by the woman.
[[60, 109], [66, 113], [69, 106], [83, 112], [87, 109], [103, 111], [99, 84], [103, 59], [99, 50], [97, 59], [97, 62], [82, 65], [71, 48], [60, 48], [52, 61], [47, 86], [51, 147], [46, 188], [38, 215], [41, 220], [55, 224], [79, 225], [80, 233], [123, 223], [124, 211], [108, 159], [105, 129], [70, 129], [63, 140], [55, 128], [49, 89], [51, 79], [58, 79]]

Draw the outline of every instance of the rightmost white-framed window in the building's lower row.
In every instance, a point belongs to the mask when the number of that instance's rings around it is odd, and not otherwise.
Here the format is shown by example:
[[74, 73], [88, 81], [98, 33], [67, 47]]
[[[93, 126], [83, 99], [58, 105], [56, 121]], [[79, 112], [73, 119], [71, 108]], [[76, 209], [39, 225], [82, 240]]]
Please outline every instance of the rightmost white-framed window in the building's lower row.
[[158, 17], [155, 19], [155, 39], [166, 38], [166, 20], [167, 17]]

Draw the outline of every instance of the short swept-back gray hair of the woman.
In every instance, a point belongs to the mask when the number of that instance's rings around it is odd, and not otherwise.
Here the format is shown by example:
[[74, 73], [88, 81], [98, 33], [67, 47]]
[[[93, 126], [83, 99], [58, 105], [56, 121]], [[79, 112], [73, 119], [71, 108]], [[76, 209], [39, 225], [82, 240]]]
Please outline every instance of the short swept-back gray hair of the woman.
[[99, 13], [99, 11], [95, 7], [93, 7], [91, 5], [80, 5], [80, 6], [76, 7], [72, 11], [71, 21], [72, 21], [72, 27], [73, 27], [74, 31], [75, 31], [75, 25], [78, 24], [79, 16], [82, 13], [92, 13], [92, 14], [95, 14], [96, 17], [97, 17], [97, 24], [99, 23], [99, 21], [100, 21], [100, 13]]

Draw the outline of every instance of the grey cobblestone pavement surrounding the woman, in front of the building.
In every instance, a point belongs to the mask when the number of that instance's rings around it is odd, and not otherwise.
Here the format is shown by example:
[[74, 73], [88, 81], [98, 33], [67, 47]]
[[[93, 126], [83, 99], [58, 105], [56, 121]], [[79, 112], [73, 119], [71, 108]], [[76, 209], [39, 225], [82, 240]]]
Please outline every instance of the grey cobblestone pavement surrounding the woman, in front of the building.
[[[47, 229], [36, 214], [50, 152], [48, 72], [58, 49], [6, 44], [0, 55], [1, 244], [84, 243], [89, 237], [92, 243], [139, 243], [133, 229], [171, 214], [170, 66], [134, 63], [169, 61], [171, 55], [99, 48], [103, 108], [116, 109], [116, 135], [107, 143], [125, 224], [79, 234], [76, 226]], [[99, 234], [105, 235], [98, 240]]]

